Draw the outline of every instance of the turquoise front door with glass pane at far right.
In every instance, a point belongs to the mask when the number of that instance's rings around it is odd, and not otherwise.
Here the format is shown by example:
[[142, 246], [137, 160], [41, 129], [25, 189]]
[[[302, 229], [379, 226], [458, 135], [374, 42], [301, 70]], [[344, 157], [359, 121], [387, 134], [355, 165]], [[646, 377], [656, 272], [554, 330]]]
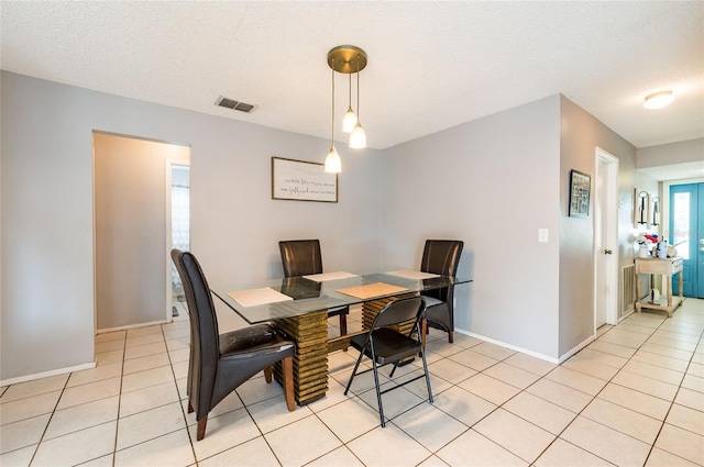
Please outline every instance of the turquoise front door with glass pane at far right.
[[[704, 184], [670, 187], [670, 236], [682, 262], [684, 297], [704, 298]], [[676, 279], [673, 281], [673, 286]], [[672, 290], [678, 290], [674, 287]]]

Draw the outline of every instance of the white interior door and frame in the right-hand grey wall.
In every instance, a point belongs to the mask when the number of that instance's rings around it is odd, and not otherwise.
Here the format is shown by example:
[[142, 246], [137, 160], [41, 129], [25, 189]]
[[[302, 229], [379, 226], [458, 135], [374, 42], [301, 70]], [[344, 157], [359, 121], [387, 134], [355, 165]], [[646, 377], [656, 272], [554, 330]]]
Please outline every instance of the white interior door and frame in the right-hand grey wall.
[[[600, 274], [605, 275], [606, 285], [605, 324], [618, 323], [618, 157], [596, 146], [594, 157], [594, 174], [596, 174], [594, 181], [594, 235], [601, 236], [602, 232], [605, 232], [606, 238], [601, 240], [600, 251], [594, 248], [594, 333], [596, 333], [597, 294], [601, 293], [597, 289]], [[606, 170], [603, 170], [603, 167], [606, 167]], [[596, 215], [597, 212], [598, 215]], [[605, 248], [605, 244], [610, 248]], [[610, 249], [614, 253], [605, 255], [602, 249]], [[603, 264], [604, 270], [600, 270], [602, 256], [608, 256], [608, 259]]]

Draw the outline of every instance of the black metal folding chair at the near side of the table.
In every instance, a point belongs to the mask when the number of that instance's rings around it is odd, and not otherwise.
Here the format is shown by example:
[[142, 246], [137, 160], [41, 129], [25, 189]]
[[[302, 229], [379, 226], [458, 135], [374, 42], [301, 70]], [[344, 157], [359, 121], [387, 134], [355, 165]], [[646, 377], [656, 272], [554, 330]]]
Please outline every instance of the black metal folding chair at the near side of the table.
[[[426, 362], [426, 351], [421, 342], [420, 322], [426, 310], [426, 301], [422, 297], [407, 297], [394, 300], [386, 304], [374, 318], [369, 332], [359, 334], [350, 340], [350, 344], [360, 351], [360, 357], [354, 364], [354, 369], [350, 376], [350, 381], [344, 389], [346, 396], [354, 377], [363, 375], [367, 371], [374, 371], [374, 385], [376, 387], [376, 401], [378, 403], [378, 415], [382, 421], [382, 427], [386, 426], [384, 420], [384, 404], [382, 403], [382, 394], [398, 389], [409, 382], [420, 378], [426, 378], [428, 387], [428, 400], [432, 403], [432, 390], [430, 389], [430, 376], [428, 374], [428, 363]], [[398, 325], [413, 320], [413, 325], [408, 333], [398, 331]], [[380, 390], [378, 368], [385, 365], [394, 365], [389, 374], [389, 378], [394, 377], [394, 371], [399, 363], [408, 357], [420, 355], [422, 359], [424, 374], [404, 382], [393, 385], [388, 389]], [[358, 373], [362, 358], [366, 356], [372, 360], [372, 368]]]

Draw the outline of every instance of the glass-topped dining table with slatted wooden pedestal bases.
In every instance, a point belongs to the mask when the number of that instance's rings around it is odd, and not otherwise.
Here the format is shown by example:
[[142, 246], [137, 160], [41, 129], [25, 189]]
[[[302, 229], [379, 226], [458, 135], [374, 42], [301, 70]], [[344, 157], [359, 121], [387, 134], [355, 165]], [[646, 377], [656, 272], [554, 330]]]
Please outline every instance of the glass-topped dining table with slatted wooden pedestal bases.
[[[361, 275], [327, 273], [249, 285], [217, 285], [210, 289], [248, 323], [271, 322], [296, 342], [294, 388], [296, 401], [302, 405], [324, 396], [328, 353], [346, 348], [355, 334], [329, 338], [327, 310], [362, 304], [363, 320], [373, 320], [364, 316], [373, 315], [395, 298], [471, 281], [414, 270], [391, 270]], [[280, 367], [275, 366], [274, 375], [279, 382], [280, 371]]]

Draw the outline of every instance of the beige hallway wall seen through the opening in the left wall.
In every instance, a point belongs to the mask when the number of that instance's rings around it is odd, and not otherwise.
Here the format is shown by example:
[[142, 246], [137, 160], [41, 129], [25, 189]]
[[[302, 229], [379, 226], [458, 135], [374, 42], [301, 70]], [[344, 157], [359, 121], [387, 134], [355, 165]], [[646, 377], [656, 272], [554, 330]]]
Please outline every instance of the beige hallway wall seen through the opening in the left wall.
[[172, 321], [170, 166], [189, 162], [187, 145], [94, 131], [97, 333]]

